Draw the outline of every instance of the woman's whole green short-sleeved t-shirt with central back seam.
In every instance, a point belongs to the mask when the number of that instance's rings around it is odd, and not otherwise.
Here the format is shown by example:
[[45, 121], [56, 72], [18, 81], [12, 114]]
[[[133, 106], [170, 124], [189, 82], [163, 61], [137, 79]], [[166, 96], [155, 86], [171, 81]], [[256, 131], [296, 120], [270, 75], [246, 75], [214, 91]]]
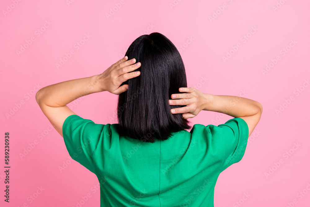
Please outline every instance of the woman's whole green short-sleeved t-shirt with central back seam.
[[241, 160], [249, 134], [241, 118], [155, 143], [120, 137], [117, 127], [78, 115], [63, 125], [69, 155], [100, 182], [100, 206], [213, 207], [217, 178]]

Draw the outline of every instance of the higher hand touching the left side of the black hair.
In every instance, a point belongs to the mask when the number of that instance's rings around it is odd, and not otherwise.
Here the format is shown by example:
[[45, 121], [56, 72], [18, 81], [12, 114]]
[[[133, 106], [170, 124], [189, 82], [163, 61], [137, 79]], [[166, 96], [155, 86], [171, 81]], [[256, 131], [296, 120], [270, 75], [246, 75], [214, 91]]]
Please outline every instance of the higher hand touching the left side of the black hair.
[[140, 75], [140, 71], [132, 71], [138, 69], [141, 66], [141, 63], [138, 62], [134, 64], [136, 61], [135, 58], [126, 61], [127, 59], [128, 57], [125, 56], [100, 74], [100, 87], [103, 91], [119, 95], [122, 92], [127, 91], [128, 84], [120, 87], [123, 82]]

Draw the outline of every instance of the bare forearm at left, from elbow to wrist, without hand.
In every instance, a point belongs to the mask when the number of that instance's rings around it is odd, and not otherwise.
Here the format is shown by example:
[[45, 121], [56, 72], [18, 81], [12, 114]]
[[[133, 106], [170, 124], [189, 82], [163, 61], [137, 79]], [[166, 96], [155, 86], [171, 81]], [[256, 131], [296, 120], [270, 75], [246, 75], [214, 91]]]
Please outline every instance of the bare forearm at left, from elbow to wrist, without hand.
[[39, 105], [65, 106], [79, 97], [104, 91], [98, 84], [99, 79], [100, 75], [94, 75], [46, 86], [37, 92], [36, 100]]

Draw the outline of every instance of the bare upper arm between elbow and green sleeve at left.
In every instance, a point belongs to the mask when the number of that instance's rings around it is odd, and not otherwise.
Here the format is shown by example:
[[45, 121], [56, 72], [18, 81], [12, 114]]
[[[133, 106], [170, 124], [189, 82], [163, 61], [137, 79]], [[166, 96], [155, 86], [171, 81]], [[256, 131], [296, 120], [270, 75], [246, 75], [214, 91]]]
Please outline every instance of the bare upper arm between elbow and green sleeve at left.
[[[37, 100], [37, 96], [36, 96]], [[68, 106], [61, 106], [61, 107], [51, 107], [47, 106], [45, 104], [40, 104], [37, 100], [43, 114], [47, 117], [47, 119], [51, 122], [53, 127], [56, 129], [56, 131], [62, 136], [62, 127], [64, 124], [64, 121], [68, 118], [70, 115], [76, 115], [71, 109], [69, 109]]]

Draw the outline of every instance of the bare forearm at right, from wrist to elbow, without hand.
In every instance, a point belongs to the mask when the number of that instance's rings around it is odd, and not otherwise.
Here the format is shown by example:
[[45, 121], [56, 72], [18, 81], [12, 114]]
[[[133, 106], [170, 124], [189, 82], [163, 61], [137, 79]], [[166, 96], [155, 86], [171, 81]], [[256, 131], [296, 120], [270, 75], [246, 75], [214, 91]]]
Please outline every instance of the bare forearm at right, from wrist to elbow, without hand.
[[232, 117], [251, 116], [262, 112], [262, 105], [254, 100], [237, 96], [205, 94], [203, 110], [224, 113]]

